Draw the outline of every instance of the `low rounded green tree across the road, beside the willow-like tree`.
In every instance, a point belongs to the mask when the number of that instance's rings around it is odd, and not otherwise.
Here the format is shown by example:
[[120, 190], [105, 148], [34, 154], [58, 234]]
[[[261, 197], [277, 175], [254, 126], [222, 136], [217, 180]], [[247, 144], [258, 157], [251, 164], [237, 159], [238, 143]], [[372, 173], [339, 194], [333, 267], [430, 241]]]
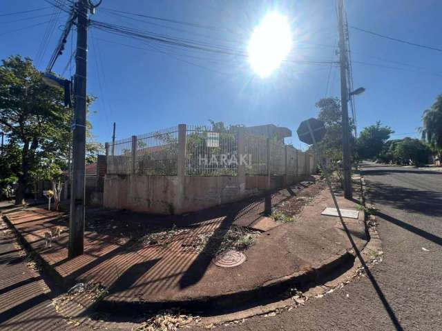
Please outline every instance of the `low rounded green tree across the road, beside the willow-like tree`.
[[416, 166], [425, 164], [428, 162], [430, 154], [431, 151], [425, 143], [410, 137], [402, 139], [394, 148], [396, 162], [402, 164], [410, 164], [410, 162]]

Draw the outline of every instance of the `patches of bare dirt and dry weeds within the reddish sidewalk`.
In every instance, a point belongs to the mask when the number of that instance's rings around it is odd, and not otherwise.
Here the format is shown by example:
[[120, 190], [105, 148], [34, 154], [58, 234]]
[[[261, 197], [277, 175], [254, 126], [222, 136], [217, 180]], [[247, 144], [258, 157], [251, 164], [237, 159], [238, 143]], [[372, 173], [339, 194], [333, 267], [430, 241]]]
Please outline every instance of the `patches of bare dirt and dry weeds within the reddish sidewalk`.
[[[325, 181], [320, 176], [314, 175], [307, 181], [291, 185], [285, 193], [278, 190], [271, 194], [273, 203], [277, 203], [273, 210], [283, 212], [289, 217], [296, 217], [302, 208], [311, 203], [325, 186]], [[278, 201], [280, 202], [278, 203]], [[229, 206], [227, 205], [226, 208]], [[204, 214], [210, 212], [211, 209], [184, 215], [155, 215], [130, 210], [88, 208], [86, 210], [86, 230], [132, 241], [134, 246], [131, 249], [149, 245], [166, 247], [178, 239], [186, 237], [198, 225], [204, 225], [206, 220]], [[255, 212], [258, 216], [264, 214], [260, 210]], [[221, 244], [215, 245], [213, 250], [205, 249], [204, 254], [218, 254], [229, 249], [245, 250], [253, 245], [254, 239], [260, 234], [258, 231], [248, 229], [247, 226], [234, 223], [227, 226], [226, 231], [222, 232], [222, 237], [218, 238]], [[198, 234], [197, 237], [193, 236], [191, 242], [185, 241], [183, 243], [183, 250], [201, 252], [210, 237], [213, 237], [213, 231]]]

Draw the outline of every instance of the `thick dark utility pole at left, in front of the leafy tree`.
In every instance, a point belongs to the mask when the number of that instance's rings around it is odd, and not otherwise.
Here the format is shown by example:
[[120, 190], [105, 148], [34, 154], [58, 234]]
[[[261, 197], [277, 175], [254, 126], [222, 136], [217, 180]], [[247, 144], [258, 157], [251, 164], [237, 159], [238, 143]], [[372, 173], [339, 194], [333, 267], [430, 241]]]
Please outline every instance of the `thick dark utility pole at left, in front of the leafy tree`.
[[75, 114], [73, 123], [73, 174], [70, 190], [69, 250], [72, 259], [84, 252], [84, 172], [86, 155], [86, 74], [88, 0], [77, 1], [77, 52], [75, 55]]

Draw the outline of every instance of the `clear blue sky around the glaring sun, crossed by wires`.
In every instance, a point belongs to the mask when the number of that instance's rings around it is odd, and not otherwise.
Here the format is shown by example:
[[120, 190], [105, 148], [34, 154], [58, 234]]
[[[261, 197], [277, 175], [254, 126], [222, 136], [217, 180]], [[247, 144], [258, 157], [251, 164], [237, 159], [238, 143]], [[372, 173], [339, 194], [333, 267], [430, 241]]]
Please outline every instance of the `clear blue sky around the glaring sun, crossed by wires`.
[[[442, 48], [441, 1], [347, 2], [350, 26]], [[48, 6], [44, 0], [2, 0], [0, 15]], [[151, 22], [142, 23], [106, 9], [186, 21], [198, 27], [137, 17]], [[295, 134], [300, 121], [318, 114], [316, 101], [340, 95], [338, 68], [296, 63], [336, 61], [335, 1], [103, 0], [91, 19], [247, 50], [253, 28], [273, 10], [287, 15], [291, 23], [294, 48], [290, 59], [294, 61], [283, 63], [267, 79], [256, 76], [244, 57], [165, 48], [91, 28], [88, 92], [98, 97], [91, 107], [96, 113], [90, 116], [97, 139], [111, 140], [113, 121], [117, 123], [117, 139], [178, 123], [206, 124], [209, 119], [246, 126], [274, 123]], [[42, 22], [48, 21], [51, 13], [48, 8], [0, 16], [0, 58], [21, 54], [36, 59], [39, 49], [44, 49], [42, 40], [48, 26]], [[17, 21], [27, 17], [36, 18]], [[40, 70], [46, 68], [66, 18], [61, 12], [46, 53], [37, 61]], [[14, 31], [37, 23], [42, 24]], [[419, 137], [414, 132], [421, 126], [423, 110], [442, 92], [442, 53], [352, 29], [349, 33], [354, 86], [366, 88], [356, 99], [358, 130], [380, 120], [396, 131], [394, 138]], [[66, 68], [70, 43], [69, 38], [55, 72]], [[65, 76], [69, 71], [68, 67]], [[287, 141], [300, 146], [295, 136]]]

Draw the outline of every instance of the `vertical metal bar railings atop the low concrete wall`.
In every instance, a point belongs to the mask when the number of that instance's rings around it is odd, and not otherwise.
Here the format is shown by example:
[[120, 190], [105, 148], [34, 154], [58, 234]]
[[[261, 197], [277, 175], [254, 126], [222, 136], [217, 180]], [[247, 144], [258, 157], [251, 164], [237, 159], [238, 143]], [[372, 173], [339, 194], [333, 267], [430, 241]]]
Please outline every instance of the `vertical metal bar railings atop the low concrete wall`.
[[[186, 176], [236, 176], [239, 164], [244, 165], [249, 176], [309, 172], [306, 153], [246, 129], [237, 126], [183, 126], [179, 129], [174, 126], [115, 141], [114, 145], [106, 143], [107, 173], [175, 176], [180, 146], [184, 155], [180, 164], [184, 164], [182, 171]], [[240, 130], [244, 135], [242, 145], [238, 146]], [[185, 150], [184, 143], [180, 145], [179, 141], [184, 133]], [[238, 153], [238, 148], [242, 154]]]

